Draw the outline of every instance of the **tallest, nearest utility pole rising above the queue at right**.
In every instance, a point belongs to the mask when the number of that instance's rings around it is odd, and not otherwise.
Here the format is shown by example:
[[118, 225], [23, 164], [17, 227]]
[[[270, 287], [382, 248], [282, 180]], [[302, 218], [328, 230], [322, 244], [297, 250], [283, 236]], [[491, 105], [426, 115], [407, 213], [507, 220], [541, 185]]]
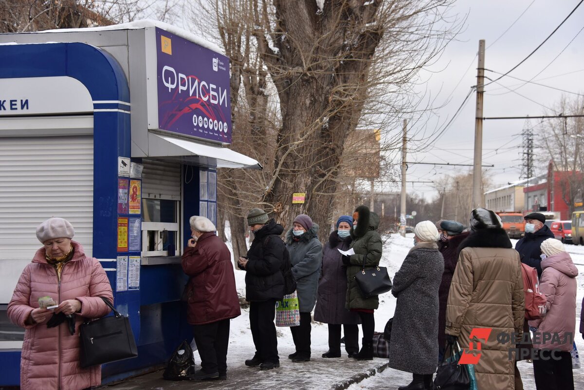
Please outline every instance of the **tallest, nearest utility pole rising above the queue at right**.
[[477, 110], [475, 114], [475, 155], [472, 169], [472, 208], [482, 207], [482, 99], [485, 83], [485, 40], [478, 41]]

